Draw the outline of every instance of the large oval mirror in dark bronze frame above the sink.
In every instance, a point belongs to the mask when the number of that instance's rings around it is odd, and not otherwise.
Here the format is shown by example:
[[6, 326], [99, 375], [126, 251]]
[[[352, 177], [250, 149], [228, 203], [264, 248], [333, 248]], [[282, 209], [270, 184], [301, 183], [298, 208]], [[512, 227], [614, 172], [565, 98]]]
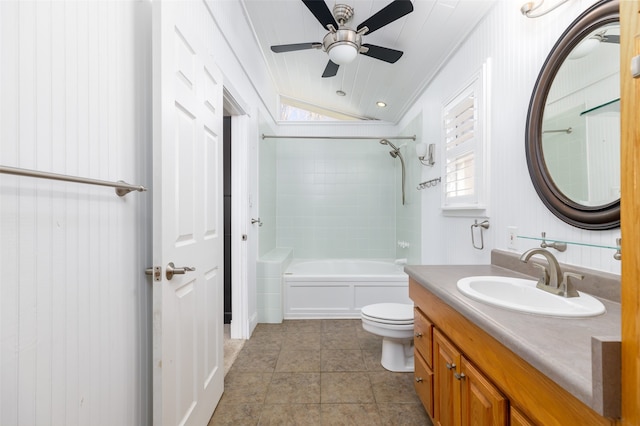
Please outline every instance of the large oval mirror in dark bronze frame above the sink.
[[583, 229], [620, 226], [618, 0], [586, 10], [551, 50], [525, 144], [531, 180], [553, 214]]

